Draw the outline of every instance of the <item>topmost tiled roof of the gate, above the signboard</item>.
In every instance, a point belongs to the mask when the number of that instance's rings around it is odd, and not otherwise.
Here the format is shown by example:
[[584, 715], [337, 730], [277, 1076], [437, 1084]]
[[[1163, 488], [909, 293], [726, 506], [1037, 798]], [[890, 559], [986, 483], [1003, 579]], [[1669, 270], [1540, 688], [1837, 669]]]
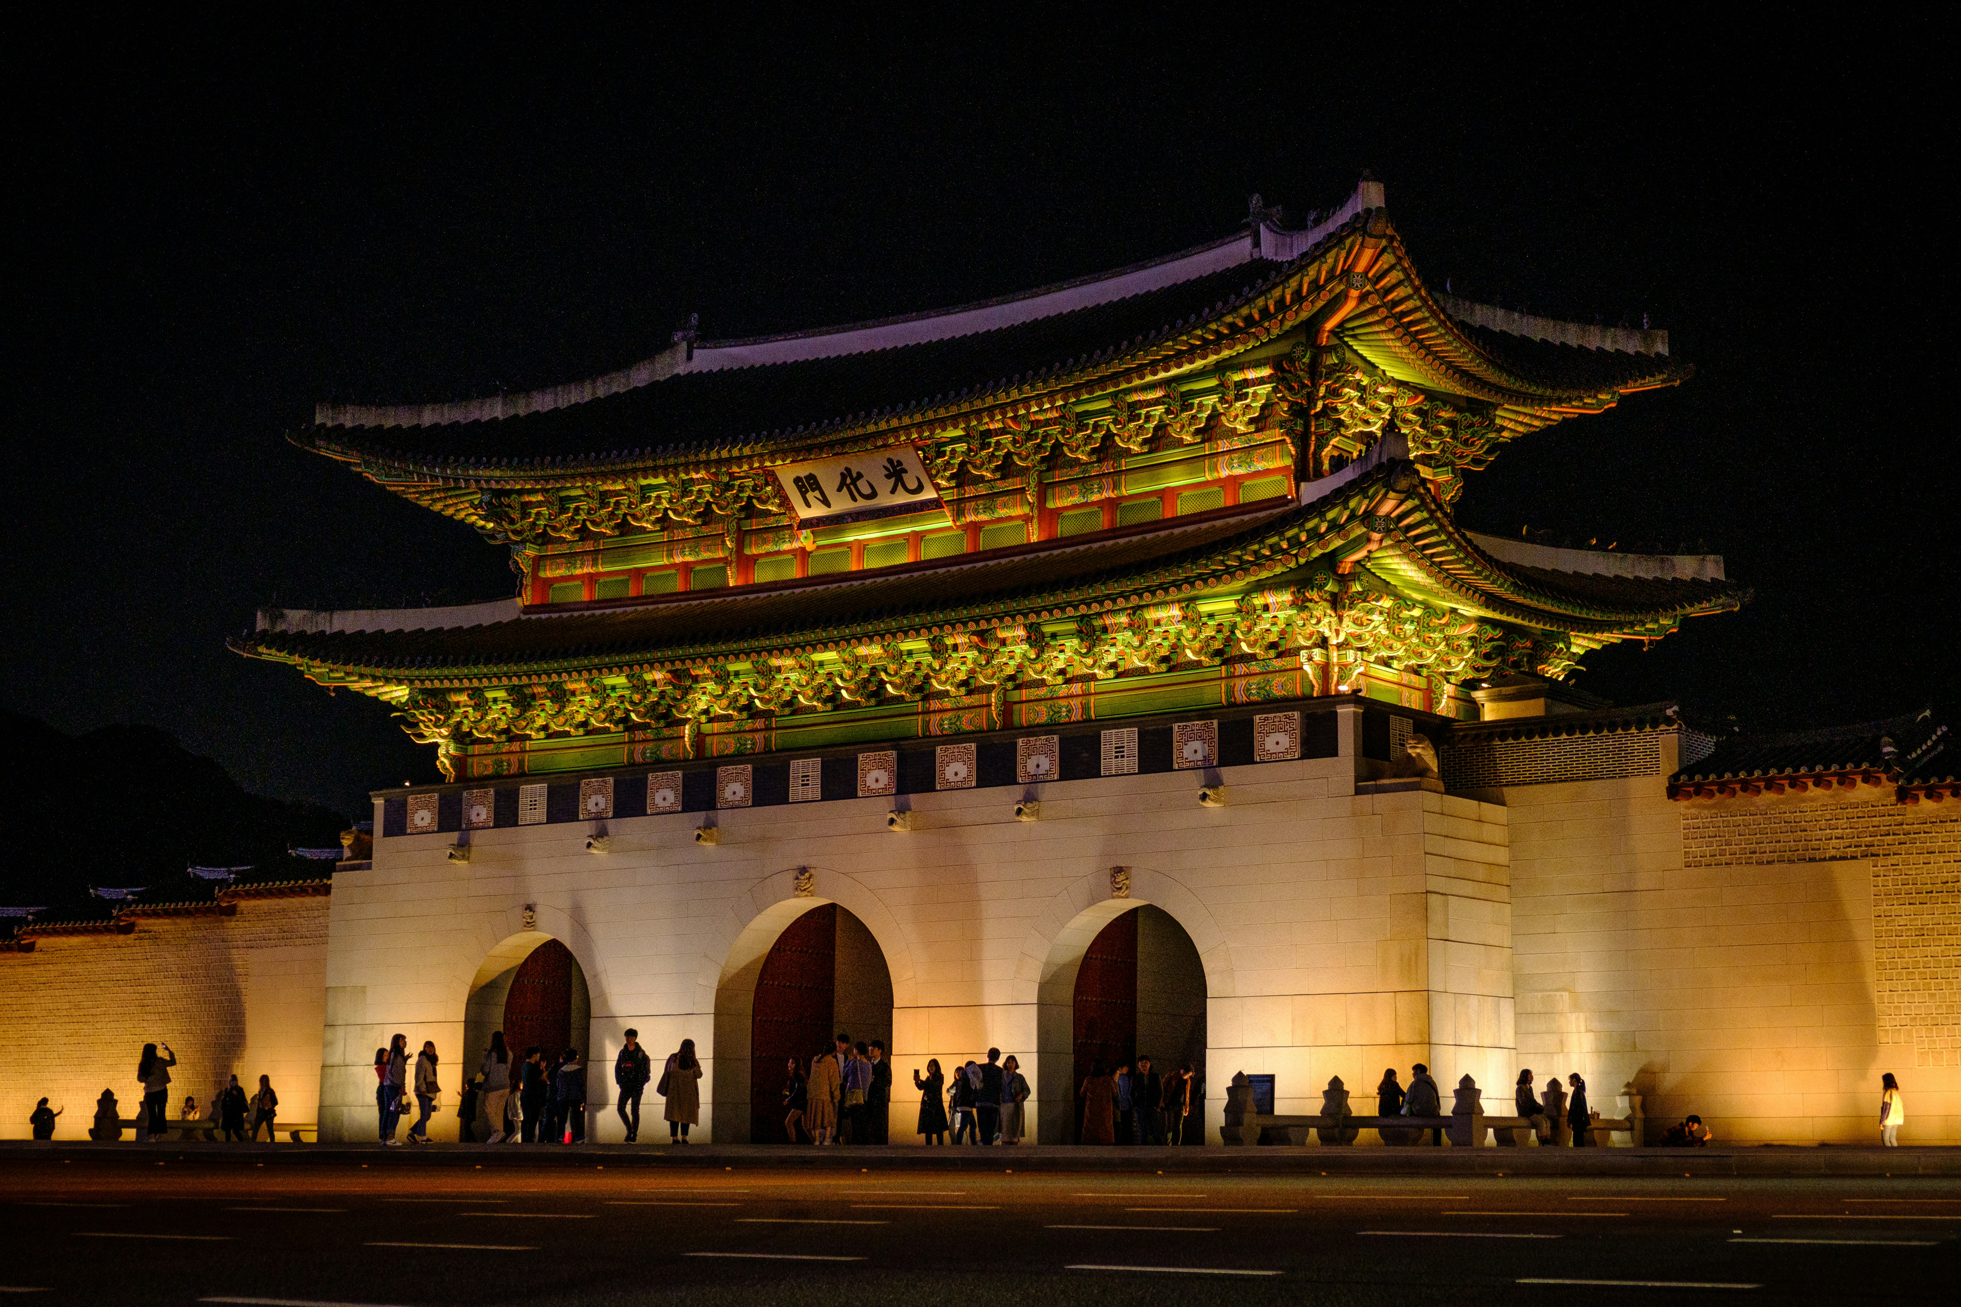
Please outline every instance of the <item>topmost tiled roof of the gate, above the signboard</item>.
[[1381, 184], [1365, 180], [1302, 231], [1259, 210], [1239, 235], [984, 304], [777, 337], [677, 339], [620, 372], [459, 404], [322, 404], [296, 439], [382, 482], [512, 484], [1030, 410], [1065, 402], [1073, 388], [1196, 366], [1324, 317], [1349, 290], [1343, 268], [1363, 245], [1379, 253], [1337, 337], [1400, 380], [1516, 410], [1506, 425], [1598, 410], [1688, 372], [1667, 357], [1663, 331], [1604, 331], [1432, 296], [1388, 225]]

